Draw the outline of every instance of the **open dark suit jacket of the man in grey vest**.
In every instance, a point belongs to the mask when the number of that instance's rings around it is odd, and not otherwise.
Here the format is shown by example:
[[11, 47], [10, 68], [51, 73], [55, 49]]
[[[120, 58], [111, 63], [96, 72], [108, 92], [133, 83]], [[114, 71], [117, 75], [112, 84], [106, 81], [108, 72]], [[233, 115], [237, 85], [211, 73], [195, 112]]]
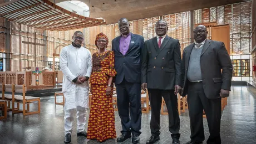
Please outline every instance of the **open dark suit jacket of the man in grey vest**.
[[[188, 66], [194, 43], [183, 50], [183, 96], [188, 94]], [[223, 42], [205, 40], [200, 58], [203, 89], [208, 99], [220, 97], [220, 89], [230, 90], [232, 81], [232, 62]], [[222, 69], [222, 73], [221, 73]]]

